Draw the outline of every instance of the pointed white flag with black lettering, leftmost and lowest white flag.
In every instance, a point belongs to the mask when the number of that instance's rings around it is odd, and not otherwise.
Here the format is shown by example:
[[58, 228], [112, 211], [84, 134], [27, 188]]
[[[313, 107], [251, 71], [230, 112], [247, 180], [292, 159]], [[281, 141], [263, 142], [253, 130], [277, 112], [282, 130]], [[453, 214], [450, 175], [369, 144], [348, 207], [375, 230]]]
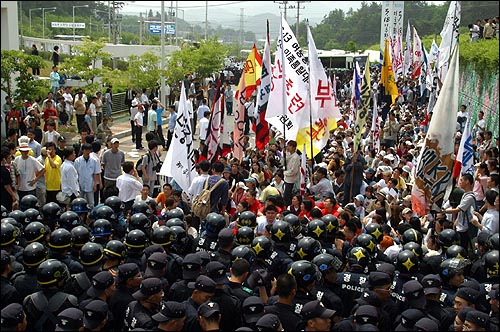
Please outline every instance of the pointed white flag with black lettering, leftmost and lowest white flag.
[[188, 102], [183, 82], [172, 142], [160, 170], [160, 175], [172, 177], [182, 190], [188, 190], [192, 180], [198, 175], [194, 162], [193, 134]]

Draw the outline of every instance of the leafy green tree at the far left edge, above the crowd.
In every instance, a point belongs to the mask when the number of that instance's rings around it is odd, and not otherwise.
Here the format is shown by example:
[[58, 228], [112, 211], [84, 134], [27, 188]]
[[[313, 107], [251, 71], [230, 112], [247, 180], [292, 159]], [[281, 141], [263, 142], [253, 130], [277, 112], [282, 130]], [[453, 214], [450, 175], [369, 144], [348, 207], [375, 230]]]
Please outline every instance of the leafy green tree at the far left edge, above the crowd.
[[31, 68], [43, 66], [40, 57], [18, 50], [2, 50], [1, 54], [2, 90], [12, 96], [16, 105], [20, 106], [24, 99], [35, 100], [47, 94], [50, 90], [48, 81], [35, 80], [31, 74]]

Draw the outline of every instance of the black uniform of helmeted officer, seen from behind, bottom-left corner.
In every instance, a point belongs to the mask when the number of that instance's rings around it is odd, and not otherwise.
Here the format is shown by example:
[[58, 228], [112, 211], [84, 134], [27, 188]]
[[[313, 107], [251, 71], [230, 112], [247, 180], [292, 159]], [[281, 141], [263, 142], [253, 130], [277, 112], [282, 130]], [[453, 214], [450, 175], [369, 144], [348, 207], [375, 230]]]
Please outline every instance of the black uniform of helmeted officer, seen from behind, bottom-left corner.
[[54, 331], [57, 315], [68, 308], [77, 307], [74, 295], [56, 288], [43, 289], [24, 299], [23, 307], [28, 320], [27, 331]]

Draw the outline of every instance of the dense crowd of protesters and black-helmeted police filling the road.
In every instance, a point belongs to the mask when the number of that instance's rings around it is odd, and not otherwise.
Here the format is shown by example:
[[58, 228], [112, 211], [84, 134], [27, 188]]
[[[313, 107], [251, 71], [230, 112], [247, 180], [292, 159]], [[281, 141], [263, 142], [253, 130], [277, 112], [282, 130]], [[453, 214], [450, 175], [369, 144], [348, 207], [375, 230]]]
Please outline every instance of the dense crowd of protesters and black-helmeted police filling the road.
[[[354, 152], [349, 80], [336, 84], [343, 117], [303, 172], [297, 143], [271, 128], [264, 150], [249, 135], [243, 160], [198, 159], [186, 190], [172, 179], [157, 189], [174, 124], [167, 140], [158, 123], [148, 128], [140, 166], [110, 132], [103, 147], [92, 120], [74, 146], [50, 113], [40, 142], [36, 119], [26, 135], [11, 130], [1, 146], [2, 331], [498, 330], [498, 137], [480, 112], [475, 174], [454, 180], [440, 211], [417, 215], [426, 98], [400, 79], [380, 148], [369, 119]], [[140, 95], [130, 107], [161, 117], [165, 107]], [[203, 149], [212, 100], [190, 95]], [[457, 149], [465, 116], [462, 105]], [[130, 120], [140, 150], [147, 121], [138, 134]], [[193, 202], [205, 187], [200, 215]]]

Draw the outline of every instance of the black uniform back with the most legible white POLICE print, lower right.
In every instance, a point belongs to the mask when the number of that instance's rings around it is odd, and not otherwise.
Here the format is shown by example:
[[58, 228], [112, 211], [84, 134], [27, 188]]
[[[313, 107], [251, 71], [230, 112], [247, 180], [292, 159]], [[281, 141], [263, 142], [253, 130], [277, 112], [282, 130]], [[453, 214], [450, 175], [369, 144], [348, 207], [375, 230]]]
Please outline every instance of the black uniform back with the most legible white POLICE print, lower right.
[[347, 272], [337, 274], [337, 283], [340, 285], [340, 298], [344, 303], [342, 316], [348, 317], [354, 307], [355, 300], [363, 294], [361, 286], [368, 280], [368, 276], [361, 273], [360, 269], [350, 268]]

